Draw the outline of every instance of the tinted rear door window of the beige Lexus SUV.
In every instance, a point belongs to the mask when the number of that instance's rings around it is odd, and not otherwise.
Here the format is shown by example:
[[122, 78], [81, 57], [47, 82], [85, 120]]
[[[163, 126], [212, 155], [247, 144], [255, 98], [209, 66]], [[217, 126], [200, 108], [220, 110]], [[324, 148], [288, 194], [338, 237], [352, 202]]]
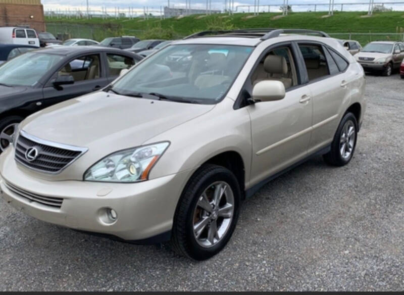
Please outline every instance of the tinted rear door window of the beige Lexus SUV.
[[301, 54], [305, 60], [309, 81], [313, 81], [329, 75], [327, 60], [321, 45], [299, 45]]

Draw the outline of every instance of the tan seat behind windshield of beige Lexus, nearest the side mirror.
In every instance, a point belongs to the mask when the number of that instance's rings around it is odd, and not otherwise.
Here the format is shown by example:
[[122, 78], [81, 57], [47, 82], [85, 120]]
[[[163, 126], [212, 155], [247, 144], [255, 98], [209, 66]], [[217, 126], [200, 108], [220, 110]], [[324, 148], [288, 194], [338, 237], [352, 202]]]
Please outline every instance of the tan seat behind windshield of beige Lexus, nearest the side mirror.
[[[194, 82], [194, 85], [198, 88], [209, 88], [229, 81], [229, 76], [225, 75], [227, 61], [226, 56], [222, 53], [210, 54], [208, 60], [208, 70], [206, 74], [199, 75]], [[212, 71], [212, 74], [209, 74]]]

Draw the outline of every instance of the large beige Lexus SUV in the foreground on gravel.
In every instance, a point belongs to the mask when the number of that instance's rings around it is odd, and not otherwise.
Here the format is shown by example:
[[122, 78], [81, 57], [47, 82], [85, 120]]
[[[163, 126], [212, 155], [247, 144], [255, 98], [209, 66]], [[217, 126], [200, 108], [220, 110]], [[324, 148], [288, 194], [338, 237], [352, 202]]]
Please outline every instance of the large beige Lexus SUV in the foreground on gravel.
[[[203, 260], [271, 179], [315, 155], [349, 163], [366, 110], [354, 57], [322, 32], [242, 32], [192, 35], [104, 91], [24, 120], [0, 156], [6, 203], [121, 240], [171, 239]], [[306, 47], [325, 60], [304, 58]], [[178, 75], [148, 74], [184, 51], [192, 62]]]

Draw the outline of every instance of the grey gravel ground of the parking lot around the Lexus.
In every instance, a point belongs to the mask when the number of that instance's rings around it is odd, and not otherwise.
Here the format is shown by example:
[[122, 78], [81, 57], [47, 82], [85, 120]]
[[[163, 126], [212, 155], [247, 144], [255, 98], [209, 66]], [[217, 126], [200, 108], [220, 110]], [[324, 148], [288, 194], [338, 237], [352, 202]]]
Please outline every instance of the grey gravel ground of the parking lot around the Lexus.
[[367, 77], [357, 151], [270, 182], [227, 247], [195, 263], [35, 220], [0, 200], [0, 290], [404, 289], [404, 80]]

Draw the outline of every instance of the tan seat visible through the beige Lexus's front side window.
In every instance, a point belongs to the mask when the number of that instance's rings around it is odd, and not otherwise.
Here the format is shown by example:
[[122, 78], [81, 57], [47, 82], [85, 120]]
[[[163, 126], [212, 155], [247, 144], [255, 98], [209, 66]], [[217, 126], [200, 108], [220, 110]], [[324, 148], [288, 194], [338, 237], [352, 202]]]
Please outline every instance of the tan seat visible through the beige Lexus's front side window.
[[282, 56], [269, 55], [266, 57], [264, 64], [258, 66], [257, 76], [252, 84], [255, 85], [265, 80], [274, 80], [282, 82], [287, 89], [293, 85], [292, 79], [285, 77], [287, 74], [288, 68], [286, 59]]

